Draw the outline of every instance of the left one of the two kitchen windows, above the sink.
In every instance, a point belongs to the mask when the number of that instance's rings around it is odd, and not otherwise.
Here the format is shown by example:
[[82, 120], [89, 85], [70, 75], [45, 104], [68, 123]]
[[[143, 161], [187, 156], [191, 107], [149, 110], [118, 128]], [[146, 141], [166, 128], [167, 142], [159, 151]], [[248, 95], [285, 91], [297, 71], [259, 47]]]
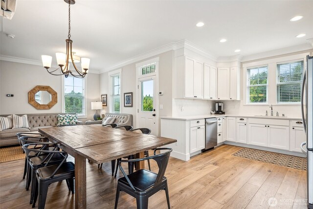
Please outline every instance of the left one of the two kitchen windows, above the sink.
[[268, 102], [268, 66], [247, 69], [247, 104]]

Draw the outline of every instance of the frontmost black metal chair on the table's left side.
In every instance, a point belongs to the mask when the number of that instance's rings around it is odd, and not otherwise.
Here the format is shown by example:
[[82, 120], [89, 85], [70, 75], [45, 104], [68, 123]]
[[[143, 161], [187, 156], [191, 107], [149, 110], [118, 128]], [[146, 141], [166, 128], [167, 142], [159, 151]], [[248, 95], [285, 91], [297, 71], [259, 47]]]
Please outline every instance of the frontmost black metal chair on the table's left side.
[[[45, 145], [46, 143], [40, 144]], [[23, 146], [25, 152], [37, 152], [37, 150], [28, 148], [28, 146], [31, 145], [34, 145], [34, 143], [25, 144]], [[72, 162], [66, 162], [68, 154], [65, 151], [41, 150], [40, 152], [45, 153], [48, 158], [42, 167], [38, 167], [36, 169], [36, 181], [34, 181], [34, 200], [32, 208], [35, 208], [39, 194], [38, 208], [44, 209], [48, 186], [50, 184], [66, 180], [69, 186], [69, 190], [72, 192], [72, 194], [74, 194], [75, 165]], [[52, 162], [55, 156], [61, 156], [61, 159], [58, 161], [58, 163]]]

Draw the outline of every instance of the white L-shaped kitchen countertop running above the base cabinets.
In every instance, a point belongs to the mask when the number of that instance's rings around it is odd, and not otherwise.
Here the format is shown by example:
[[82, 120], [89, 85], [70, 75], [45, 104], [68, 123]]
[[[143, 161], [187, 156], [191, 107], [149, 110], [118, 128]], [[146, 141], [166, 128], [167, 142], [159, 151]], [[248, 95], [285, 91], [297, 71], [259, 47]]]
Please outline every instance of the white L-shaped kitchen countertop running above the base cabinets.
[[300, 117], [282, 117], [282, 116], [247, 116], [247, 115], [217, 115], [217, 114], [208, 114], [208, 115], [198, 115], [198, 116], [160, 116], [161, 119], [173, 119], [173, 120], [197, 120], [204, 119], [209, 117], [250, 117], [250, 118], [266, 118], [266, 119], [284, 119], [284, 120], [301, 120]]

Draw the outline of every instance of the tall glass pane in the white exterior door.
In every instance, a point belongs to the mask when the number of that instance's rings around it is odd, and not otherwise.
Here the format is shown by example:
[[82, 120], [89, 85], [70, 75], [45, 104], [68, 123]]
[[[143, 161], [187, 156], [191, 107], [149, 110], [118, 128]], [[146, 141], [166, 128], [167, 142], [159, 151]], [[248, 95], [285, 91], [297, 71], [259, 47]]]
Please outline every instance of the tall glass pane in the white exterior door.
[[153, 80], [141, 82], [141, 110], [153, 111]]

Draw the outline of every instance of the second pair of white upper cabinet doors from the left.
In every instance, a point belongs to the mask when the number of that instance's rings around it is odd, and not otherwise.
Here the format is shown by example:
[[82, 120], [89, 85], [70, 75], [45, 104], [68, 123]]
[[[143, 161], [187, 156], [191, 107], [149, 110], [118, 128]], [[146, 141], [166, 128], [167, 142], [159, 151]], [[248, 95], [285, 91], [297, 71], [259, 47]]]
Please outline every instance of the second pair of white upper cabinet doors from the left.
[[217, 69], [204, 63], [203, 67], [203, 98], [216, 99]]

